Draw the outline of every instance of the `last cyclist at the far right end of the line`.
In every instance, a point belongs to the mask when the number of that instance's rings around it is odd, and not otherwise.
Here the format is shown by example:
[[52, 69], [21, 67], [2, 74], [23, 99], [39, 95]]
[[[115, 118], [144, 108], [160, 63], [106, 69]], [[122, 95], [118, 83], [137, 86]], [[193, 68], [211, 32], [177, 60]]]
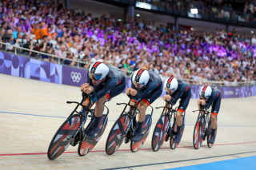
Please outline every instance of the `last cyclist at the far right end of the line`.
[[209, 109], [212, 105], [210, 120], [211, 120], [211, 138], [209, 143], [214, 144], [217, 128], [217, 115], [222, 101], [222, 95], [217, 87], [210, 87], [210, 85], [203, 85], [199, 90], [198, 109]]

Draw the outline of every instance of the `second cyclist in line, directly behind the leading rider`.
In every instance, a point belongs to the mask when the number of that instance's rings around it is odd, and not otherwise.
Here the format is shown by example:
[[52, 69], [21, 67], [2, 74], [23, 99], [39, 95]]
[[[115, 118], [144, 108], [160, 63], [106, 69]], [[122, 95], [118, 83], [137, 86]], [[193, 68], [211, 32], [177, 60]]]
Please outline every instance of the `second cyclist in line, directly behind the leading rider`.
[[134, 101], [131, 105], [137, 105], [138, 126], [131, 140], [137, 141], [142, 135], [142, 125], [146, 118], [146, 109], [162, 94], [162, 80], [157, 73], [146, 69], [136, 70], [131, 77], [131, 87], [126, 89], [126, 93], [134, 96], [138, 102]]

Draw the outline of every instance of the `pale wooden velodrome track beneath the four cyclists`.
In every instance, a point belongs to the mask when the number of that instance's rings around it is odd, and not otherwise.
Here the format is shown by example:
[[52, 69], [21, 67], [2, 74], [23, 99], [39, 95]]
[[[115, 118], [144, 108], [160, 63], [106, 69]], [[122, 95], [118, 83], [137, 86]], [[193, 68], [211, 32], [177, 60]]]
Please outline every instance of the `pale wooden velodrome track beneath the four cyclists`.
[[[178, 148], [171, 150], [168, 141], [158, 152], [151, 150], [152, 132], [161, 114], [161, 110], [154, 109], [153, 125], [143, 150], [130, 152], [130, 143], [123, 143], [120, 151], [108, 156], [106, 137], [122, 111], [116, 103], [128, 101], [125, 94], [120, 94], [106, 103], [109, 122], [93, 152], [80, 157], [78, 146], [70, 146], [58, 159], [48, 160], [50, 140], [74, 109], [66, 101], [80, 100], [78, 87], [0, 74], [0, 169], [163, 169], [256, 156], [256, 97], [222, 99], [213, 148], [207, 148], [206, 141], [202, 148], [193, 148], [197, 113], [192, 110], [197, 107], [196, 99], [191, 99]], [[163, 104], [159, 98], [152, 106]]]

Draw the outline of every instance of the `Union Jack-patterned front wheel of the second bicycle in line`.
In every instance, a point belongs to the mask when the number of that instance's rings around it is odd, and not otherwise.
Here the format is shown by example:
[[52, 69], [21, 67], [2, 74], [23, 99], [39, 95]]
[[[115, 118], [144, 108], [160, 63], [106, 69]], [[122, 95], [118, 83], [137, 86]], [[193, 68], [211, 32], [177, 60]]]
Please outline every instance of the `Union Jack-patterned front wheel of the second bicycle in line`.
[[115, 121], [113, 127], [110, 130], [110, 134], [106, 140], [106, 154], [112, 155], [121, 146], [122, 141], [125, 138], [125, 132], [130, 123], [130, 116], [123, 114]]

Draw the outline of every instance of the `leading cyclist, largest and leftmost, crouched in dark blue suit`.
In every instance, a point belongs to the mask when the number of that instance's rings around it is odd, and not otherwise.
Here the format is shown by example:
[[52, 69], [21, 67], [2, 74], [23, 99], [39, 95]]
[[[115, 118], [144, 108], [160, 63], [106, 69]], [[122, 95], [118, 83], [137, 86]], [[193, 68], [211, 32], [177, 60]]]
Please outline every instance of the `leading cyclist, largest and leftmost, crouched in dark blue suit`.
[[118, 96], [126, 88], [126, 77], [122, 71], [112, 65], [105, 65], [100, 61], [90, 65], [87, 73], [87, 82], [81, 85], [84, 93], [91, 94], [82, 105], [89, 108], [95, 105], [95, 121], [88, 129], [88, 136], [95, 136], [98, 124], [104, 111], [104, 103]]

